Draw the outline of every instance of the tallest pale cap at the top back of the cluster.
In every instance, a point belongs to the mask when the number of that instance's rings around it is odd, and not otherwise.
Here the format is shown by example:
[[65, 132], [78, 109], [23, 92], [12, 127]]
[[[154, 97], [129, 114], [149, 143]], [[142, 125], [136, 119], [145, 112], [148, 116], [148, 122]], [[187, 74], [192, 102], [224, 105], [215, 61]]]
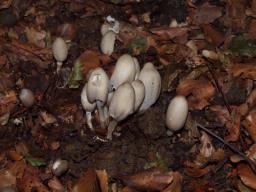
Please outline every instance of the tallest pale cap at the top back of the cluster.
[[110, 86], [117, 89], [119, 85], [132, 82], [135, 79], [136, 68], [132, 56], [124, 54], [116, 62], [110, 78]]

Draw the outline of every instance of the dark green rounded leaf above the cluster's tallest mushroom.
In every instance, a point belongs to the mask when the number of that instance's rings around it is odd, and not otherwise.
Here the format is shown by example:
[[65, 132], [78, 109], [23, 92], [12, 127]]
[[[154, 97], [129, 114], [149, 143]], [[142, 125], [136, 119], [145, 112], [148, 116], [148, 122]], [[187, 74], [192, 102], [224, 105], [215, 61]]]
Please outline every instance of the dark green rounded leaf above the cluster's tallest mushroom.
[[145, 37], [136, 36], [129, 40], [127, 44], [129, 52], [139, 55], [147, 49], [147, 39]]

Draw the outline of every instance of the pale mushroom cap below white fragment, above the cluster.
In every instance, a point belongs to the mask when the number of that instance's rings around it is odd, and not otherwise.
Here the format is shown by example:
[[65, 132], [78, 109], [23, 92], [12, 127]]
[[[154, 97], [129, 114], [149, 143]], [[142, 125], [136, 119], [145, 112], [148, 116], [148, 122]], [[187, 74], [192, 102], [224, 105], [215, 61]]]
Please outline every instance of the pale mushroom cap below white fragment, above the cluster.
[[111, 55], [114, 51], [116, 41], [116, 34], [113, 31], [106, 32], [100, 42], [100, 49], [102, 53]]

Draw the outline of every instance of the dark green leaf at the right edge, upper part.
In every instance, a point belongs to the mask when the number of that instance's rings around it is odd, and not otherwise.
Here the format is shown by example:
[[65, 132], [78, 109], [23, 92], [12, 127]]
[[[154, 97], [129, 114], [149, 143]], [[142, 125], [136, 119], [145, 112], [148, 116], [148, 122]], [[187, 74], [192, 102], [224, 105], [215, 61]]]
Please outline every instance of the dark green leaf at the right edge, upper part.
[[241, 56], [255, 57], [256, 56], [256, 42], [248, 40], [243, 36], [233, 37], [229, 43], [228, 48]]

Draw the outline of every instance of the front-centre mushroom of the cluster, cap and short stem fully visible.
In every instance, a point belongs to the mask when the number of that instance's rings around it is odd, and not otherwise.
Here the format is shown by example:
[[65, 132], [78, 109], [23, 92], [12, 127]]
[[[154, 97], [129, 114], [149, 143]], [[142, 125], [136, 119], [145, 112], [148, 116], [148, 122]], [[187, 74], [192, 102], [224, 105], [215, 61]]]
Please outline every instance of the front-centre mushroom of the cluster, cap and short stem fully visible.
[[108, 126], [107, 139], [112, 140], [112, 133], [118, 122], [133, 113], [135, 104], [135, 91], [130, 83], [120, 85], [115, 91], [109, 106], [109, 116], [112, 120]]

